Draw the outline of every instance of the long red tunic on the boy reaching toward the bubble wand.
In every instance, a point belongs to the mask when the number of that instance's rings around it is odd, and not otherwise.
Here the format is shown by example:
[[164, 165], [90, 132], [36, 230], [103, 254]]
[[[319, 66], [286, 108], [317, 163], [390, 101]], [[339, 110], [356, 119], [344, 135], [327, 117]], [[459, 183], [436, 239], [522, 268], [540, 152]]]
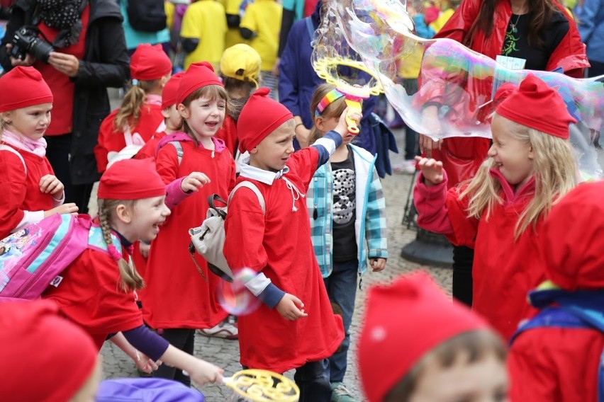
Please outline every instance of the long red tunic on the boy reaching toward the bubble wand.
[[301, 299], [308, 314], [288, 321], [262, 303], [240, 316], [240, 362], [250, 368], [286, 372], [330, 357], [344, 338], [313, 252], [306, 200], [294, 197], [296, 191], [284, 180], [306, 194], [317, 163], [318, 151], [308, 147], [289, 158], [289, 172], [272, 184], [246, 178], [264, 196], [266, 214], [251, 190], [237, 190], [230, 202], [224, 244], [228, 265], [262, 270], [276, 287]]

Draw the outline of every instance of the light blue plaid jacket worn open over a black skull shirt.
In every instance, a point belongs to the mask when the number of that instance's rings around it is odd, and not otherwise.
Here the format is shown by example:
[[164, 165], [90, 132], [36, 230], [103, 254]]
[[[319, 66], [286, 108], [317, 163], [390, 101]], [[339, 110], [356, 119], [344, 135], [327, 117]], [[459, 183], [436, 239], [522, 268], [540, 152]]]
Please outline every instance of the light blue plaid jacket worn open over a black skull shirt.
[[[388, 258], [386, 231], [386, 202], [375, 169], [376, 156], [350, 145], [354, 152], [356, 177], [356, 220], [359, 274], [367, 270], [367, 258]], [[333, 270], [333, 175], [331, 163], [320, 166], [306, 193], [306, 207], [311, 218], [311, 239], [321, 275], [328, 277]], [[314, 219], [316, 209], [316, 217]]]

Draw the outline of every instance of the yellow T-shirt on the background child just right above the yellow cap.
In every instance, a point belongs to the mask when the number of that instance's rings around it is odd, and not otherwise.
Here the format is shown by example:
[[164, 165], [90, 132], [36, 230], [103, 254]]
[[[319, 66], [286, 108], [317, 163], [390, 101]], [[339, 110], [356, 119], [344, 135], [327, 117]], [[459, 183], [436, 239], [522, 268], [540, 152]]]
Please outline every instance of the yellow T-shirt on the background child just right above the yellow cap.
[[256, 0], [247, 6], [245, 16], [241, 19], [241, 28], [257, 33], [250, 41], [250, 46], [260, 54], [262, 71], [271, 71], [276, 61], [282, 14], [283, 7], [275, 0]]

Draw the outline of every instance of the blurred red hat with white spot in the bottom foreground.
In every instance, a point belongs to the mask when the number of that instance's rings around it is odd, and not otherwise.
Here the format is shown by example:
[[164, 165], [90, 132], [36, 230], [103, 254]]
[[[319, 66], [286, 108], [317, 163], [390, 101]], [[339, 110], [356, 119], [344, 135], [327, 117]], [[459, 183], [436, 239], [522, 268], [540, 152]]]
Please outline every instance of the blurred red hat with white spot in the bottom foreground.
[[[401, 315], [393, 318], [393, 311]], [[425, 272], [371, 287], [357, 348], [359, 374], [369, 402], [382, 401], [437, 345], [486, 328], [482, 318], [449, 299]]]

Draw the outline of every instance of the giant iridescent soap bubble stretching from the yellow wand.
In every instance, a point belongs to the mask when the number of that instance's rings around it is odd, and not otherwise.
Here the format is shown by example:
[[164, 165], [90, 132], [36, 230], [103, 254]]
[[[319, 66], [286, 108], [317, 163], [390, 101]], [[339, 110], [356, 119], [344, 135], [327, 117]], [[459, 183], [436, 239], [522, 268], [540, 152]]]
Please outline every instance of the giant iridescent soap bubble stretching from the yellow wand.
[[[604, 76], [574, 79], [554, 71], [510, 69], [457, 41], [419, 38], [404, 2], [398, 0], [338, 0], [326, 8], [313, 51], [313, 67], [326, 81], [364, 93], [384, 91], [413, 130], [442, 139], [491, 137], [496, 89], [535, 74], [557, 89], [578, 120], [571, 125], [571, 144], [579, 169], [602, 176], [592, 142], [603, 129]], [[371, 79], [350, 81], [338, 65], [366, 71]], [[401, 69], [413, 65], [421, 67], [419, 91], [408, 93]], [[435, 110], [437, 118], [430, 117]]]

